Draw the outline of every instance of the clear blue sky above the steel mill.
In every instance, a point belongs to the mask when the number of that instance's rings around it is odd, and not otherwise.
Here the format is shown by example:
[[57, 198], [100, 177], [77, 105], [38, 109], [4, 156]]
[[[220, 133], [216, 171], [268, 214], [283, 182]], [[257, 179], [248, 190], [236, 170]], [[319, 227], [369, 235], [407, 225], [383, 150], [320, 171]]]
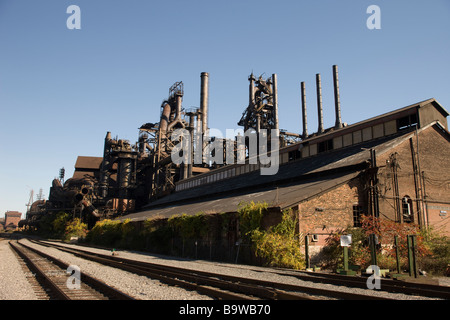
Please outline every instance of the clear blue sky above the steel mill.
[[[69, 30], [69, 5], [81, 30]], [[381, 9], [369, 30], [368, 6]], [[278, 74], [280, 127], [317, 130], [315, 74], [325, 127], [334, 125], [332, 65], [349, 124], [428, 98], [450, 110], [450, 1], [0, 0], [0, 217], [48, 197], [61, 167], [102, 156], [107, 131], [135, 142], [159, 121], [169, 87], [199, 105], [210, 73], [210, 127], [237, 128], [248, 75]]]

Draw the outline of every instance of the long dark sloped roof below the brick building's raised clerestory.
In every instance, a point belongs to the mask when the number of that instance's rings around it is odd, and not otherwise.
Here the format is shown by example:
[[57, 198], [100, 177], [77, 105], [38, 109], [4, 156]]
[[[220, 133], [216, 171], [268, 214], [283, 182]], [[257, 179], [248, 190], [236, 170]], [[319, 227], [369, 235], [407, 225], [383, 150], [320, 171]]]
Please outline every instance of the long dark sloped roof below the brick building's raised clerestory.
[[[439, 126], [436, 123], [430, 124], [419, 129], [419, 132], [434, 125]], [[281, 165], [278, 173], [273, 176], [262, 176], [259, 171], [254, 171], [175, 192], [149, 204], [145, 210], [123, 216], [120, 220], [168, 218], [183, 213], [193, 215], [199, 212], [235, 212], [239, 203], [250, 201], [265, 201], [270, 207], [289, 208], [356, 178], [368, 167], [368, 149], [374, 149], [377, 155], [381, 155], [414, 134], [401, 132], [288, 162]]]

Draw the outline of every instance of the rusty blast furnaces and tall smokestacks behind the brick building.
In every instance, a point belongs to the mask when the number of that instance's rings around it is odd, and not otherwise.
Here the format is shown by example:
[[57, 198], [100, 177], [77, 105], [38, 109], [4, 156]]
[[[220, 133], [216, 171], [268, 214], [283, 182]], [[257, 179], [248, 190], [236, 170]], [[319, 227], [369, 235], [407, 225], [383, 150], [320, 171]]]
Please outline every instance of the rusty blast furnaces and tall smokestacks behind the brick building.
[[[280, 129], [276, 74], [267, 79], [262, 76], [256, 78], [253, 73], [249, 76], [249, 101], [238, 125], [244, 131], [253, 130], [257, 133], [263, 129], [278, 130], [280, 147], [340, 129], [345, 125], [341, 122], [337, 66], [333, 66], [333, 79], [336, 110], [336, 124], [333, 128], [324, 129], [323, 126], [320, 74], [316, 75], [319, 114], [316, 133], [308, 134], [304, 82], [301, 82], [303, 132], [289, 133]], [[200, 75], [198, 108], [185, 109], [183, 95], [183, 82], [175, 82], [160, 106], [159, 121], [141, 125], [135, 144], [112, 138], [111, 132], [107, 132], [103, 156], [84, 159], [89, 164], [80, 164], [79, 170], [76, 168], [77, 175], [74, 174], [74, 177], [65, 182], [63, 177], [54, 179], [47, 203], [40, 203], [36, 213], [70, 211], [74, 216], [95, 222], [145, 208], [148, 203], [175, 192], [178, 182], [229, 164], [226, 161], [211, 161], [212, 155], [220, 152], [225, 155], [227, 148], [233, 148], [232, 154], [236, 157], [237, 138], [227, 141], [209, 137], [209, 74], [202, 72]], [[188, 161], [183, 163], [175, 163], [171, 157], [177, 144], [183, 143], [172, 139], [172, 134], [177, 129], [184, 129], [189, 133], [189, 156], [186, 157]], [[216, 150], [214, 146], [217, 145], [221, 148]], [[227, 158], [227, 161], [230, 159]], [[30, 217], [34, 219], [36, 215], [30, 213]]]

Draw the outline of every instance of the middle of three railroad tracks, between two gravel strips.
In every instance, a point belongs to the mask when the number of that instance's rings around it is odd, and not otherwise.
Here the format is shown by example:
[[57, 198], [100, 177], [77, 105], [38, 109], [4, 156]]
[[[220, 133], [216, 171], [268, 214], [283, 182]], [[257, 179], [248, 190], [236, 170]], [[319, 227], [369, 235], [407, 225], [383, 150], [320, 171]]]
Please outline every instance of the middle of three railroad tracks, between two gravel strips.
[[49, 242], [32, 241], [36, 244], [57, 248], [58, 250], [76, 255], [83, 259], [95, 261], [104, 265], [126, 270], [135, 274], [158, 279], [169, 285], [196, 290], [217, 299], [275, 299], [275, 300], [390, 300], [388, 298], [344, 292], [339, 289], [319, 289], [309, 286], [299, 286], [281, 282], [262, 281], [224, 275], [213, 272], [191, 270], [181, 267], [159, 265], [155, 263], [136, 261], [118, 256], [111, 256], [91, 251], [68, 248]]

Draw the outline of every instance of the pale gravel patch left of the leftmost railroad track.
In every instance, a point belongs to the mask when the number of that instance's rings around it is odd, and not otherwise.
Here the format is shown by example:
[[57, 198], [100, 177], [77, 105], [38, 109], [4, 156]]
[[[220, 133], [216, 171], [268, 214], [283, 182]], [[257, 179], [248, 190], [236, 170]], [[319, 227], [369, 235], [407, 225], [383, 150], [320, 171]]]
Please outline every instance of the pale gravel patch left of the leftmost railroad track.
[[17, 256], [0, 238], [0, 300], [37, 300]]

